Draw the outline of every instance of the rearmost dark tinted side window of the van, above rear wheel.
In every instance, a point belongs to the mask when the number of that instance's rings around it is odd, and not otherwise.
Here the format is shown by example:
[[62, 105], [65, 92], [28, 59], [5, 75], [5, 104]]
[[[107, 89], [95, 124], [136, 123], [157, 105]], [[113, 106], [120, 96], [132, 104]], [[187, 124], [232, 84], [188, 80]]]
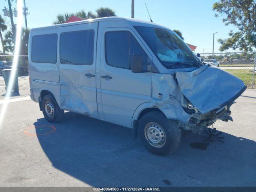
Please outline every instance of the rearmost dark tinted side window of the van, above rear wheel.
[[32, 37], [32, 62], [57, 62], [57, 34], [36, 35]]

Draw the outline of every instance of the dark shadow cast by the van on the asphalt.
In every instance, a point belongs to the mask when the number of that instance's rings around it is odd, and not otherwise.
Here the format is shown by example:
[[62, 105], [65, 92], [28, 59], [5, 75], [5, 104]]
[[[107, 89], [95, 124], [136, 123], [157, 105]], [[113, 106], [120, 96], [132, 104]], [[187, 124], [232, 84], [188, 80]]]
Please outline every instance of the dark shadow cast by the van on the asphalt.
[[256, 186], [256, 142], [231, 134], [197, 150], [190, 143], [202, 139], [189, 133], [176, 152], [156, 156], [132, 140], [131, 129], [72, 112], [58, 124], [34, 123], [40, 125], [56, 127], [38, 136], [52, 165], [91, 186]]

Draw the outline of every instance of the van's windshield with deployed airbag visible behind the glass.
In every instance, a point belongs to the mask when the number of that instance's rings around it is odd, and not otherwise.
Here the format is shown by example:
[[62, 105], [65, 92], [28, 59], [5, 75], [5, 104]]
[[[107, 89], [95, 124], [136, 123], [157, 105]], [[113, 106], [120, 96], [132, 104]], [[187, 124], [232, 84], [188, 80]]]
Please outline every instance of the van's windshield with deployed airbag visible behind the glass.
[[134, 28], [166, 68], [202, 65], [202, 62], [175, 32], [143, 26], [134, 26]]

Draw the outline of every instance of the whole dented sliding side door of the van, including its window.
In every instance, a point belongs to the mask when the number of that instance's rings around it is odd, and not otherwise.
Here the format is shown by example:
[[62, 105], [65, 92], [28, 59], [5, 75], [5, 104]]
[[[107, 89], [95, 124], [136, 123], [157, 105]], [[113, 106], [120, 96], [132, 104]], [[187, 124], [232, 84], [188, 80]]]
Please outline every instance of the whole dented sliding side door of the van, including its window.
[[97, 30], [98, 22], [59, 28], [60, 107], [96, 118]]

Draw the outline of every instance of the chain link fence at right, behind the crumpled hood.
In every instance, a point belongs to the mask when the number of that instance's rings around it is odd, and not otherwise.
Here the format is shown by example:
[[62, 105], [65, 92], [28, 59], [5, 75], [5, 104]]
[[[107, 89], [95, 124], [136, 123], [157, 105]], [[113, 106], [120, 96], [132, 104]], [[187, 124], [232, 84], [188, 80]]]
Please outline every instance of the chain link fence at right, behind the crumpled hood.
[[256, 52], [200, 53], [204, 62], [218, 65], [244, 81], [248, 88], [256, 88]]

